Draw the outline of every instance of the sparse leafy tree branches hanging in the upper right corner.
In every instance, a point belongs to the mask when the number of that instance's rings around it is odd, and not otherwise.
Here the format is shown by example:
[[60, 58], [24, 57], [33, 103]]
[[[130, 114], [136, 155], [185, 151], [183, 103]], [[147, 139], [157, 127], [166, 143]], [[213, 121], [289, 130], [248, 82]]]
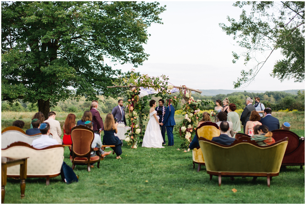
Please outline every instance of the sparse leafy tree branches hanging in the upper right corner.
[[[280, 49], [284, 58], [276, 61], [270, 75], [281, 81], [293, 78], [295, 82], [302, 82], [305, 79], [305, 2], [236, 2], [234, 6], [250, 6], [251, 12], [247, 14], [243, 9], [239, 21], [228, 17], [230, 26], [219, 24], [244, 48], [240, 54], [233, 52], [233, 63], [241, 56], [245, 64], [251, 58], [257, 61], [249, 71], [241, 71], [234, 88], [249, 84], [276, 49]], [[257, 52], [263, 53], [265, 59], [256, 59]]]

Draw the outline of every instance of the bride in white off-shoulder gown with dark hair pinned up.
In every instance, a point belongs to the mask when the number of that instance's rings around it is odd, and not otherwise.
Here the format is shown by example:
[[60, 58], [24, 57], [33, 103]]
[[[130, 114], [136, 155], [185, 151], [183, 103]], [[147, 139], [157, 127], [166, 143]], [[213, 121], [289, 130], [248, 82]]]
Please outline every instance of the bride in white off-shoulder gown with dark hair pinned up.
[[150, 107], [150, 120], [146, 132], [144, 133], [142, 147], [164, 148], [162, 146], [164, 140], [159, 128], [159, 117], [156, 115], [157, 111], [155, 111], [155, 100], [150, 101]]

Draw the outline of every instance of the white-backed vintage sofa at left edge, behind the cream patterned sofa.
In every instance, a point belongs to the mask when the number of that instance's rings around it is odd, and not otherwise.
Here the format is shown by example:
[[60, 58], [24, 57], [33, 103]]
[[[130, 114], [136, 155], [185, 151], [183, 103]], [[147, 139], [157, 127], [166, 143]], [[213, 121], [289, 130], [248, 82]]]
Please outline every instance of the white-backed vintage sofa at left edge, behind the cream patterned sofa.
[[31, 145], [33, 140], [40, 137], [41, 133], [36, 135], [27, 135], [19, 127], [7, 127], [1, 132], [1, 149], [6, 148], [8, 145], [14, 142], [25, 142]]

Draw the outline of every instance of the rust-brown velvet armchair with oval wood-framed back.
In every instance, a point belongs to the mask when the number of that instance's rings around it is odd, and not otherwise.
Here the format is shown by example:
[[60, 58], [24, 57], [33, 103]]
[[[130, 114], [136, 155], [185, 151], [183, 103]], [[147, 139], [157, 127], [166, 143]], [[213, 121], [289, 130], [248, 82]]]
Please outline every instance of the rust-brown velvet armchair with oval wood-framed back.
[[[94, 141], [94, 131], [89, 127], [78, 125], [71, 129], [72, 140], [72, 156], [70, 160], [72, 162], [72, 169], [75, 165], [87, 164], [87, 170], [90, 171], [90, 164], [98, 162], [97, 167], [100, 165], [99, 148], [91, 148], [91, 144]], [[90, 157], [90, 153], [96, 151], [96, 156]]]

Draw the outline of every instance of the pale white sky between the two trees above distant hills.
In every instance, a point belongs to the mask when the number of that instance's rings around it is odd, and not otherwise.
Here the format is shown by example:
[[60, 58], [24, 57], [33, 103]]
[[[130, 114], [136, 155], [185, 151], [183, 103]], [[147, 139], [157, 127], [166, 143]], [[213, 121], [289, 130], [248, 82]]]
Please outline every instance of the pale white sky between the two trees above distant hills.
[[[249, 70], [255, 62], [244, 65], [244, 59], [232, 63], [232, 51], [240, 53], [233, 36], [228, 36], [219, 23], [229, 26], [227, 16], [239, 19], [242, 8], [234, 2], [159, 2], [166, 5], [160, 14], [164, 24], [151, 24], [148, 28], [145, 52], [150, 56], [142, 66], [135, 68], [149, 76], [169, 76], [173, 85], [186, 85], [193, 89], [234, 89], [242, 69]], [[239, 90], [289, 90], [305, 89], [305, 82], [293, 79], [281, 82], [270, 77], [273, 65], [282, 56], [274, 52], [260, 70], [255, 80]], [[132, 64], [113, 65], [114, 69], [127, 72]]]

